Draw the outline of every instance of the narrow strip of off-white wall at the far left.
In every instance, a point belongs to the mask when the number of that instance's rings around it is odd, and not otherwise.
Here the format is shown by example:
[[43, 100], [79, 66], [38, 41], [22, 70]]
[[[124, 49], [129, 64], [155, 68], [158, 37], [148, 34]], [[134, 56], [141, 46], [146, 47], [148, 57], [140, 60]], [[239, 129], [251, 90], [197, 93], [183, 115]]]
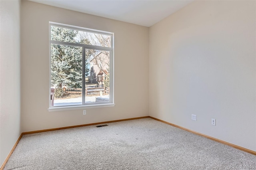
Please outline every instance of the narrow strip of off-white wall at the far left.
[[0, 1], [0, 166], [20, 136], [20, 1]]

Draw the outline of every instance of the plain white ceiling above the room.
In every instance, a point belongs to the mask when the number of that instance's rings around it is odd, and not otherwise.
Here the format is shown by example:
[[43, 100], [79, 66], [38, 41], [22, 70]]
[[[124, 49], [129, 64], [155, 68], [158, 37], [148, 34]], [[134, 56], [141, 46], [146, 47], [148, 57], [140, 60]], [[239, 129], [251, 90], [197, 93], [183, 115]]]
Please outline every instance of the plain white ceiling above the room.
[[30, 0], [150, 27], [193, 0]]

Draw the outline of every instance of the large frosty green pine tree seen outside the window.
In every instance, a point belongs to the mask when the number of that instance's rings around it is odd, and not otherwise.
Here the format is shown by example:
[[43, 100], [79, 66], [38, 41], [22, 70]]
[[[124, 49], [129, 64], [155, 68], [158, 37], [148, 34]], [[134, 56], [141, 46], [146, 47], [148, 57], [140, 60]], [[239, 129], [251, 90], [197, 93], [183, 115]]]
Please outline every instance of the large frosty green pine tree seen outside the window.
[[[51, 40], [77, 42], [78, 31], [51, 27]], [[90, 42], [89, 42], [90, 43]], [[85, 75], [88, 75], [88, 62], [85, 63]], [[57, 88], [66, 85], [69, 88], [82, 88], [82, 47], [71, 45], [51, 45], [51, 83]]]

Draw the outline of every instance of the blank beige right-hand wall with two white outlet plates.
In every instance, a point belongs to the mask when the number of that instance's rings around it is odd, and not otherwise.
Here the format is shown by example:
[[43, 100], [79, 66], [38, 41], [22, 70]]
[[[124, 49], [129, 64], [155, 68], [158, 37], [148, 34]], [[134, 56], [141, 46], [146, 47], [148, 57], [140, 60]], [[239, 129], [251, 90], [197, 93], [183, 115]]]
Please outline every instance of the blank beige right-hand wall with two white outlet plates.
[[255, 7], [194, 1], [150, 27], [150, 116], [256, 151]]

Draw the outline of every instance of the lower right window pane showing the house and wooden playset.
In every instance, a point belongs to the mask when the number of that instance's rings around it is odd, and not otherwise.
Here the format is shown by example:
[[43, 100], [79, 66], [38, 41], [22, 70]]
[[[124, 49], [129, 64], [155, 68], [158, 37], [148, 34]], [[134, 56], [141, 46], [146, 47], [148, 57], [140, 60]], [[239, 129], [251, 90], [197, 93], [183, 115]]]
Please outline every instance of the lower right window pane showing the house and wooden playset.
[[86, 49], [85, 102], [109, 102], [110, 52]]

